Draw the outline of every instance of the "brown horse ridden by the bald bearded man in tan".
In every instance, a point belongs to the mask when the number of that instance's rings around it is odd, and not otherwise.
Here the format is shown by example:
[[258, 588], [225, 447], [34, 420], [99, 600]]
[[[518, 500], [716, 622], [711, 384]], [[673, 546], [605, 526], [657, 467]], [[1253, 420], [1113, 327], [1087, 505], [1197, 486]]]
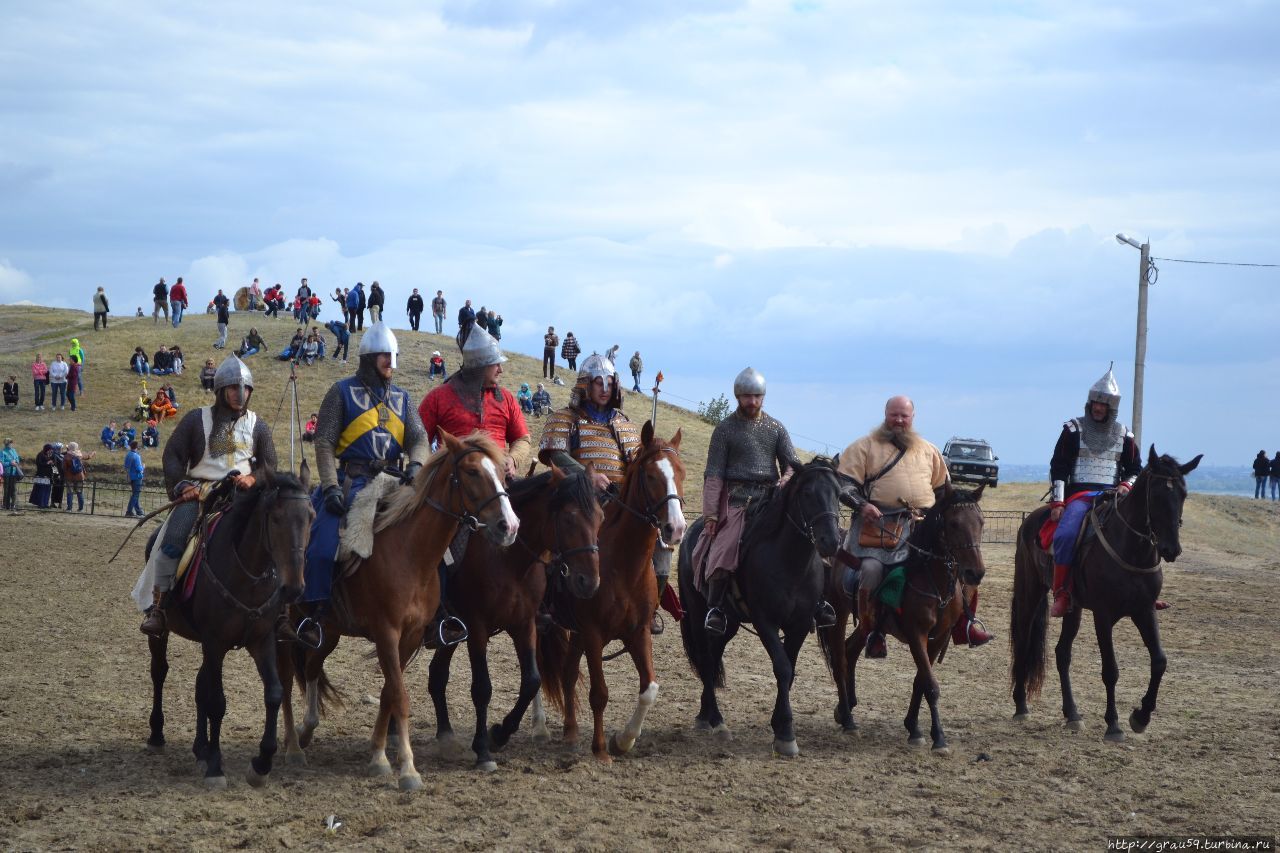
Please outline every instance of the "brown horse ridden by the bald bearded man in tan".
[[[924, 519], [908, 537], [909, 557], [902, 603], [897, 610], [883, 608], [879, 620], [879, 629], [905, 643], [915, 661], [911, 702], [902, 720], [908, 744], [923, 747], [925, 743], [919, 717], [920, 699], [927, 699], [929, 735], [936, 756], [948, 756], [951, 748], [938, 715], [940, 689], [933, 666], [946, 657], [951, 629], [965, 617], [966, 587], [980, 584], [987, 573], [982, 560], [983, 516], [978, 503], [986, 488], [984, 483], [972, 492], [963, 492], [952, 489], [950, 483], [946, 485], [941, 500], [924, 514]], [[836, 722], [845, 733], [852, 733], [858, 729], [852, 713], [858, 706], [855, 670], [858, 656], [867, 644], [868, 631], [858, 625], [845, 638], [845, 625], [854, 605], [842, 589], [841, 574], [842, 571], [833, 571], [828, 579], [831, 599], [836, 602], [836, 624], [819, 629], [818, 642], [836, 681]]]

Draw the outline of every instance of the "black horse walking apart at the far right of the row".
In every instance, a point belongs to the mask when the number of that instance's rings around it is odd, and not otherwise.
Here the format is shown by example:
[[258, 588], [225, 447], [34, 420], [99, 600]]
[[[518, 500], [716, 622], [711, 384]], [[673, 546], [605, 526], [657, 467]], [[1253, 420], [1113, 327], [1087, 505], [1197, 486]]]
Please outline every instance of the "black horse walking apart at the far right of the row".
[[[1203, 453], [1179, 465], [1172, 456], [1157, 456], [1151, 446], [1147, 467], [1138, 475], [1128, 497], [1117, 500], [1115, 508], [1100, 519], [1097, 506], [1089, 511], [1097, 540], [1087, 543], [1076, 557], [1071, 575], [1075, 590], [1071, 611], [1062, 617], [1062, 634], [1057, 640], [1057, 674], [1062, 683], [1062, 716], [1071, 731], [1082, 729], [1080, 712], [1071, 695], [1071, 644], [1080, 630], [1082, 608], [1093, 611], [1093, 630], [1102, 653], [1102, 683], [1107, 688], [1106, 740], [1124, 740], [1116, 713], [1116, 665], [1111, 630], [1128, 616], [1142, 637], [1151, 656], [1151, 679], [1142, 706], [1129, 715], [1129, 727], [1140, 734], [1147, 730], [1156, 710], [1156, 694], [1165, 675], [1165, 652], [1160, 647], [1156, 599], [1165, 583], [1161, 560], [1174, 562], [1181, 553], [1178, 528], [1183, 523], [1187, 501], [1187, 475], [1196, 470]], [[1015, 720], [1027, 720], [1027, 697], [1036, 697], [1044, 683], [1046, 634], [1050, 589], [1053, 571], [1052, 556], [1038, 543], [1041, 526], [1050, 507], [1041, 507], [1027, 516], [1018, 530], [1014, 552], [1014, 602], [1009, 617], [1010, 680], [1014, 688]]]

